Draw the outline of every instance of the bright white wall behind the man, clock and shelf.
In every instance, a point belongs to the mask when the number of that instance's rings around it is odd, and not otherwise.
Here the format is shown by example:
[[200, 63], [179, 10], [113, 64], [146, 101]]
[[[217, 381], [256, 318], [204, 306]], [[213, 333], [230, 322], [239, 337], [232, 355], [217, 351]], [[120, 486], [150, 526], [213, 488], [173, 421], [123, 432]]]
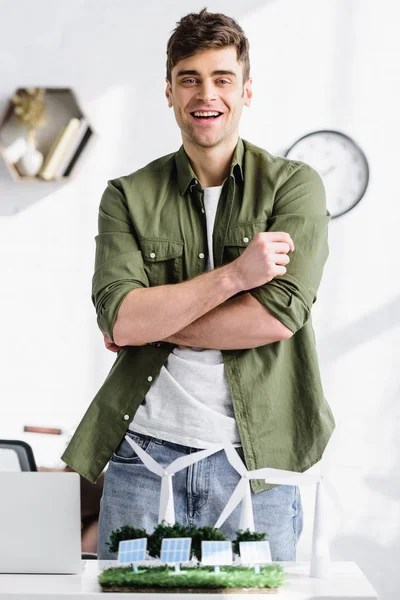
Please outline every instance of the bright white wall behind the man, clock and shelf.
[[[98, 133], [68, 185], [17, 185], [0, 166], [0, 436], [23, 424], [73, 429], [113, 361], [90, 301], [97, 208], [111, 177], [180, 144], [163, 96], [165, 45], [203, 2], [0, 0], [0, 108], [20, 86], [71, 86]], [[206, 4], [207, 5], [207, 4]], [[381, 0], [215, 1], [251, 46], [254, 101], [241, 135], [280, 153], [318, 128], [342, 130], [370, 161], [362, 202], [330, 226], [314, 309], [326, 397], [338, 431], [333, 557], [356, 560], [398, 597], [400, 409], [396, 189], [399, 14]], [[66, 438], [31, 443], [55, 464]], [[307, 559], [313, 496], [303, 490]]]

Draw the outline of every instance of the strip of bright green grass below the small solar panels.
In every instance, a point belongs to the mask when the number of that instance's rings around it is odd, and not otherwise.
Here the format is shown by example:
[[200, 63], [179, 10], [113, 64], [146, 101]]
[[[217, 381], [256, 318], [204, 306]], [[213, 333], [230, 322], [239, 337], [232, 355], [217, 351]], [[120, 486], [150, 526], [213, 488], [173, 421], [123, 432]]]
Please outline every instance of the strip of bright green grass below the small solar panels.
[[221, 567], [220, 573], [214, 573], [213, 567], [181, 567], [175, 573], [173, 567], [139, 567], [135, 573], [131, 567], [112, 567], [105, 569], [99, 576], [104, 590], [113, 588], [152, 589], [235, 589], [235, 588], [277, 588], [285, 583], [285, 571], [281, 565], [269, 564], [260, 568], [256, 575], [250, 567]]

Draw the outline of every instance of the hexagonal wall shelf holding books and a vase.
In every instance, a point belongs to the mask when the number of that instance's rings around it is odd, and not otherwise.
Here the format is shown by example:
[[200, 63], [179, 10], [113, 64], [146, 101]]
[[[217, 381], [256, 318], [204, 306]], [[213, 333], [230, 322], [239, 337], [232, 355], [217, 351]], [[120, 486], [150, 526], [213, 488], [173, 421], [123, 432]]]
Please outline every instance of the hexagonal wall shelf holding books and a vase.
[[0, 151], [15, 181], [62, 181], [92, 135], [71, 89], [20, 88], [0, 121]]

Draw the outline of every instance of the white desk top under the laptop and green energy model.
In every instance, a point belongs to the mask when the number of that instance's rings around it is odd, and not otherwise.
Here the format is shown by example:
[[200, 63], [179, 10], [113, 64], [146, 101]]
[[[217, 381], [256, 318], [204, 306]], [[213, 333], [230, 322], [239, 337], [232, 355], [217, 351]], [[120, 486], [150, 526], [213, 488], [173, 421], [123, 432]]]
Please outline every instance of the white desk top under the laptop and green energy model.
[[378, 596], [365, 575], [354, 562], [334, 562], [330, 580], [310, 579], [309, 563], [283, 562], [287, 571], [287, 583], [277, 594], [132, 594], [103, 593], [97, 583], [97, 576], [107, 567], [115, 566], [116, 561], [82, 561], [81, 575], [0, 575], [0, 599], [7, 600], [75, 600], [76, 598], [120, 600], [122, 598], [142, 600], [187, 600], [194, 597], [200, 600], [221, 600], [240, 598], [241, 600], [377, 600]]

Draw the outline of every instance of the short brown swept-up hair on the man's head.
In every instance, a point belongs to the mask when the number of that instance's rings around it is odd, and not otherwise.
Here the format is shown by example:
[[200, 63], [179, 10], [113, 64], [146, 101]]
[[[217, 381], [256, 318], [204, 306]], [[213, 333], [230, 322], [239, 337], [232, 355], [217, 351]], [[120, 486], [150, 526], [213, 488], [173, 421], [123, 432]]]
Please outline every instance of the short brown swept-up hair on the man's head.
[[189, 13], [177, 22], [167, 44], [167, 79], [184, 58], [208, 48], [235, 46], [238, 62], [243, 65], [243, 83], [250, 77], [249, 42], [239, 23], [221, 13]]

